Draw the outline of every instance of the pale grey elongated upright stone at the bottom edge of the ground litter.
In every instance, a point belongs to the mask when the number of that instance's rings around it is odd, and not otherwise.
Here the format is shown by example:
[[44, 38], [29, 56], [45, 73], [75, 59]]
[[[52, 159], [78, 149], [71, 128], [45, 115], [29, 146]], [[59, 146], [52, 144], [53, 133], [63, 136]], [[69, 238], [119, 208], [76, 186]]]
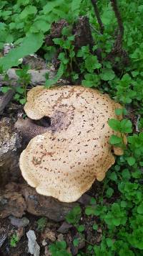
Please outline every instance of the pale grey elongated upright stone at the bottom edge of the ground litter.
[[29, 242], [28, 242], [29, 252], [31, 253], [31, 255], [39, 256], [40, 247], [39, 247], [39, 244], [36, 242], [36, 235], [34, 233], [34, 230], [29, 230], [29, 232], [26, 232], [26, 236], [29, 239]]

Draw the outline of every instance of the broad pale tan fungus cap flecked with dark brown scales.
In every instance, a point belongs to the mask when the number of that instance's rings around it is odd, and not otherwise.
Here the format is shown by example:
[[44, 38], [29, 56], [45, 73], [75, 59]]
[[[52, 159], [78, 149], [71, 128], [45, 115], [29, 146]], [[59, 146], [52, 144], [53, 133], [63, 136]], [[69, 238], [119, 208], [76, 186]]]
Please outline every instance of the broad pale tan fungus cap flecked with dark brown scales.
[[108, 120], [121, 108], [92, 88], [32, 88], [24, 106], [30, 119], [50, 117], [51, 125], [21, 153], [20, 168], [30, 186], [44, 196], [73, 202], [103, 180], [114, 164]]

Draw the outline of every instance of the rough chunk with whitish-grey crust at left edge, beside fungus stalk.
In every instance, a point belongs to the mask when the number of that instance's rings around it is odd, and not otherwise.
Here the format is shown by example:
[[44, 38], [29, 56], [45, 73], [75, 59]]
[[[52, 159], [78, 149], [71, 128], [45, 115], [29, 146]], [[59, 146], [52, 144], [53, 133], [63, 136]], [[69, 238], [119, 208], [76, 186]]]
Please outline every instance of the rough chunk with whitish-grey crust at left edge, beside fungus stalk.
[[19, 148], [21, 147], [21, 137], [11, 119], [4, 118], [0, 122], [0, 180], [4, 186], [9, 177], [17, 180], [20, 177], [19, 171]]

